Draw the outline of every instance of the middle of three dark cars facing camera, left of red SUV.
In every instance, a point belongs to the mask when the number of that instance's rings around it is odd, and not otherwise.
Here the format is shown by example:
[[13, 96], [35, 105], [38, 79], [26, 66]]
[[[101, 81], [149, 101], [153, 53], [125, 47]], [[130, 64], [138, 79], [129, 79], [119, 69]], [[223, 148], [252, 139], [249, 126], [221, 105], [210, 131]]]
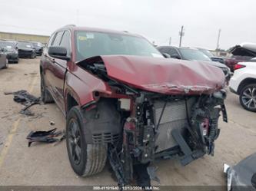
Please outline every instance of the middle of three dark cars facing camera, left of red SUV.
[[18, 58], [35, 58], [33, 44], [29, 41], [18, 41]]

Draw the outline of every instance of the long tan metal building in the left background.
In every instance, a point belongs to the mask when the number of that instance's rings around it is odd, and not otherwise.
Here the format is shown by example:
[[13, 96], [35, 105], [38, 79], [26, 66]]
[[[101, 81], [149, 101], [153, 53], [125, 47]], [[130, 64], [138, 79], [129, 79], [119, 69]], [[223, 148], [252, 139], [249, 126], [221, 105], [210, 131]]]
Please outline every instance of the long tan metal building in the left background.
[[45, 35], [29, 35], [29, 34], [20, 34], [12, 32], [2, 32], [0, 31], [0, 39], [13, 40], [13, 41], [38, 41], [42, 43], [48, 42], [49, 36]]

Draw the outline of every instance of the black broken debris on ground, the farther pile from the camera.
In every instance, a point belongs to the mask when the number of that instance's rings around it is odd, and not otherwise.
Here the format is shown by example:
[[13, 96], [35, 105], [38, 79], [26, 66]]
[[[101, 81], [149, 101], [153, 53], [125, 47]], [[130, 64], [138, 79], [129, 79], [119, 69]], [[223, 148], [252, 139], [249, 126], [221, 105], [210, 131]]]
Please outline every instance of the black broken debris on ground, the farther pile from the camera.
[[21, 91], [15, 91], [15, 92], [5, 92], [5, 95], [13, 94], [13, 100], [17, 103], [25, 105], [25, 107], [22, 108], [22, 110], [19, 112], [20, 114], [25, 114], [27, 116], [34, 116], [35, 114], [32, 113], [31, 110], [28, 110], [29, 107], [32, 107], [32, 105], [40, 104], [41, 100], [40, 97], [35, 97], [32, 94], [29, 94], [28, 91], [21, 90]]

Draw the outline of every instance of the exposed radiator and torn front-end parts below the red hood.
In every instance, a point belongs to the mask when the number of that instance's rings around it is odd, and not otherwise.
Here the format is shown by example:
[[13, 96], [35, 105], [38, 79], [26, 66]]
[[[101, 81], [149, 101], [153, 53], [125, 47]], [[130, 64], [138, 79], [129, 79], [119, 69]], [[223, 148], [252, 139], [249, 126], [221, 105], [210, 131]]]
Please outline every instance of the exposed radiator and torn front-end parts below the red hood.
[[[156, 158], [178, 156], [182, 165], [214, 155], [218, 138], [218, 118], [224, 107], [225, 91], [201, 96], [166, 96], [143, 92], [132, 104], [131, 116], [125, 119], [122, 147], [110, 147], [117, 155], [113, 165], [121, 183], [134, 179], [134, 166], [150, 165]], [[111, 153], [113, 154], [113, 153]], [[118, 158], [118, 159], [117, 159]]]

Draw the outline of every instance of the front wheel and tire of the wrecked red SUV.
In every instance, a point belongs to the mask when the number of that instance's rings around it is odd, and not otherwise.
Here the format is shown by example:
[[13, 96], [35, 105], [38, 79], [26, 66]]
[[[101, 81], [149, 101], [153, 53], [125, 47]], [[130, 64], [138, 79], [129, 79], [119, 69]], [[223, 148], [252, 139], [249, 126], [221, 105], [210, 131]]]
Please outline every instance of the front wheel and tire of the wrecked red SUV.
[[84, 117], [78, 106], [68, 112], [66, 143], [72, 169], [78, 176], [90, 176], [103, 170], [107, 160], [105, 143], [86, 143]]

